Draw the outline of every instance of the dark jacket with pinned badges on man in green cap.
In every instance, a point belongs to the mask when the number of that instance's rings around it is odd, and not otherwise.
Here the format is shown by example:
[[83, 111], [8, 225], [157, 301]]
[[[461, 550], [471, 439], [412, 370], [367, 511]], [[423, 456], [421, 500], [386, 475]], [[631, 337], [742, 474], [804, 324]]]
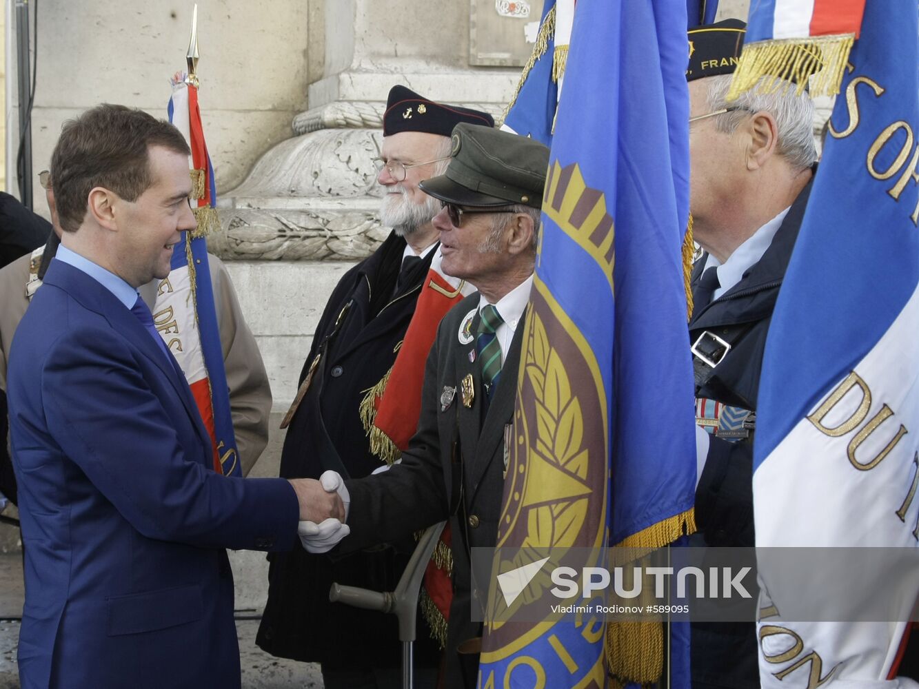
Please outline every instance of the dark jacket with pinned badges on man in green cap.
[[[453, 602], [444, 669], [445, 685], [453, 688], [475, 685], [478, 655], [457, 652], [461, 642], [482, 635], [481, 623], [471, 621], [470, 548], [493, 548], [497, 537], [504, 490], [505, 425], [514, 415], [517, 363], [525, 330], [521, 320], [494, 397], [486, 405], [479, 362], [470, 361], [469, 356], [475, 342], [461, 344], [458, 338], [461, 322], [478, 304], [479, 294], [472, 294], [440, 323], [427, 359], [418, 430], [403, 453], [402, 464], [369, 479], [348, 481], [351, 534], [340, 546], [363, 548], [450, 520]], [[478, 322], [476, 315], [473, 333]], [[472, 378], [471, 406], [466, 406], [461, 391], [466, 376]], [[450, 397], [453, 389], [456, 393]]]

